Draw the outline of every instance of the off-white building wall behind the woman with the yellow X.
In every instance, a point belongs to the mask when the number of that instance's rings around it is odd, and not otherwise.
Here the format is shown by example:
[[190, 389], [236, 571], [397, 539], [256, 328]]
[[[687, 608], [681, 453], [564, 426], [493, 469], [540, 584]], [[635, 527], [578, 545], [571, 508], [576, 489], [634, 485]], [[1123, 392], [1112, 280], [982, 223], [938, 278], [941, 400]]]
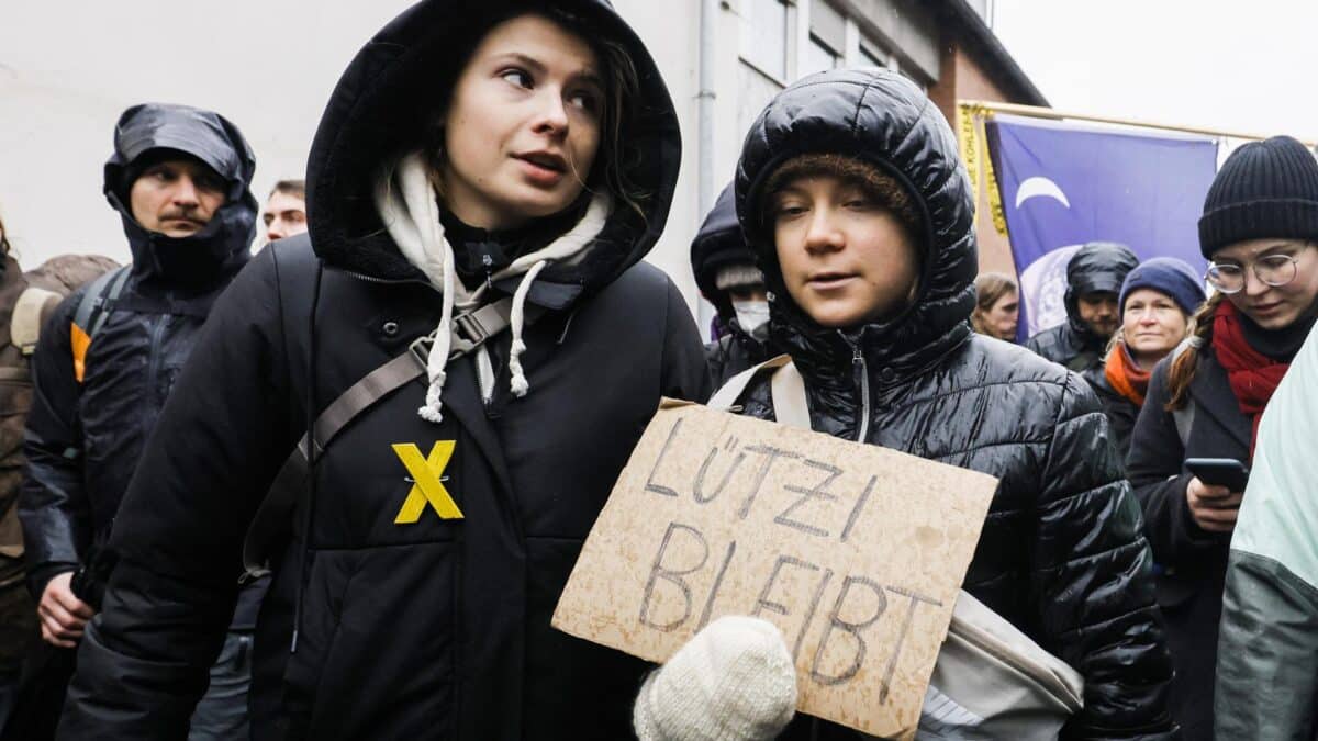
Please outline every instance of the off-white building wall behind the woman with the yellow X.
[[[117, 216], [100, 194], [119, 113], [145, 100], [212, 108], [257, 154], [258, 199], [301, 177], [339, 74], [405, 0], [74, 0], [0, 3], [0, 216], [32, 268], [67, 252], [127, 261]], [[677, 196], [650, 260], [696, 306], [689, 244], [696, 203], [699, 0], [614, 0], [668, 82], [683, 131]], [[731, 178], [737, 20], [721, 12], [716, 187]], [[725, 96], [724, 92], [728, 92]]]

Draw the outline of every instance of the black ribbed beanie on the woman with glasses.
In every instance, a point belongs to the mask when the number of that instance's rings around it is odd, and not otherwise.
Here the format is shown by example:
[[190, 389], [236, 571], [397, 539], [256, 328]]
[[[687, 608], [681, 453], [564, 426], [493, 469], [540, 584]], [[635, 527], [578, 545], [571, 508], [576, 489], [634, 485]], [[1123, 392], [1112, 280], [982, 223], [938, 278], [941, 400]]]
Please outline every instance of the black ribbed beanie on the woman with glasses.
[[1318, 161], [1289, 136], [1251, 141], [1213, 178], [1199, 218], [1199, 251], [1249, 239], [1318, 239]]

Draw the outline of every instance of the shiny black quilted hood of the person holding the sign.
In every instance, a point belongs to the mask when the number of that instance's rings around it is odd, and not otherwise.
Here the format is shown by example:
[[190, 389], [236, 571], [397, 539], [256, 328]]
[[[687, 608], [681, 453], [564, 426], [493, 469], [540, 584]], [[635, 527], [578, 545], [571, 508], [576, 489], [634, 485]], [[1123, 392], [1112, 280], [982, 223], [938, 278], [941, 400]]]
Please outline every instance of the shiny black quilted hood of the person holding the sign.
[[[899, 316], [863, 327], [870, 360], [909, 374], [970, 336], [978, 265], [970, 181], [946, 119], [907, 78], [882, 70], [834, 70], [807, 76], [768, 104], [746, 134], [737, 165], [737, 215], [774, 293], [772, 338], [817, 381], [851, 359], [842, 332], [812, 322], [783, 285], [782, 268], [759, 200], [770, 175], [799, 154], [849, 154], [879, 167], [915, 196], [925, 245], [915, 303]], [[890, 374], [891, 377], [896, 377]]]

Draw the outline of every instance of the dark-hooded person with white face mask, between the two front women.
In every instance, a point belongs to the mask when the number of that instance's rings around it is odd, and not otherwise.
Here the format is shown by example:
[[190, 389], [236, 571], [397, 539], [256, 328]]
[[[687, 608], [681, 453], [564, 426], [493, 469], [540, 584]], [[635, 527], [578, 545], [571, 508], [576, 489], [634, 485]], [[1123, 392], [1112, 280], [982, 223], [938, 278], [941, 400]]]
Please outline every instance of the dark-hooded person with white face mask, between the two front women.
[[705, 301], [718, 311], [720, 336], [705, 345], [714, 385], [768, 360], [768, 297], [755, 253], [742, 237], [731, 183], [691, 243], [691, 269]]

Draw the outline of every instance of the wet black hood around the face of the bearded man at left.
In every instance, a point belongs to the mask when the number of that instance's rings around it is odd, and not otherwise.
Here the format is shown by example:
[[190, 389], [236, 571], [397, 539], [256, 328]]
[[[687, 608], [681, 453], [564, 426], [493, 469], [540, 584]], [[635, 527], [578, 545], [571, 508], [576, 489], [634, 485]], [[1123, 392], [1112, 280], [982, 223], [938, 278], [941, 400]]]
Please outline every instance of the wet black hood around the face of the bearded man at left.
[[[128, 206], [125, 177], [156, 150], [182, 152], [215, 170], [228, 183], [225, 203], [211, 222], [187, 237], [150, 232]], [[145, 281], [210, 286], [246, 264], [256, 239], [257, 202], [252, 195], [256, 156], [228, 119], [188, 105], [145, 103], [124, 111], [115, 124], [115, 154], [105, 162], [103, 191], [124, 222], [133, 253], [133, 274]]]

